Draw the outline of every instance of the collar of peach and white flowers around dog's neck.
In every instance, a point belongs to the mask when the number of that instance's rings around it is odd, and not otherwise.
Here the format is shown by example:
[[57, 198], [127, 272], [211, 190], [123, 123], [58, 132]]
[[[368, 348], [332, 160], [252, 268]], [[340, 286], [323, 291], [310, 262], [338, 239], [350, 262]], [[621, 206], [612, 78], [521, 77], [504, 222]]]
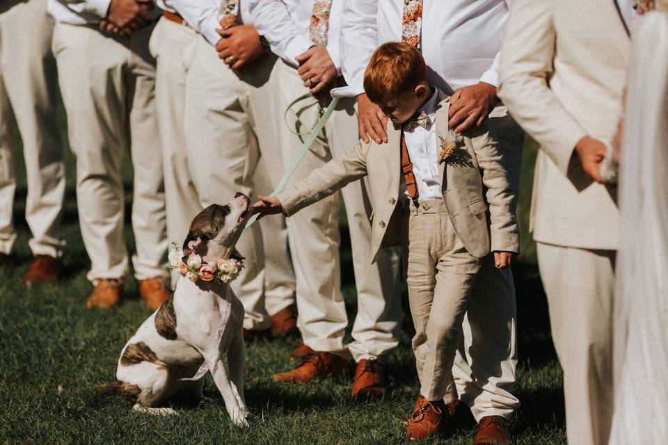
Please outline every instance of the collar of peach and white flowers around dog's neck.
[[[193, 243], [193, 241], [191, 241]], [[177, 243], [172, 243], [172, 251], [169, 254], [169, 270], [178, 270], [181, 275], [188, 277], [191, 282], [202, 280], [209, 282], [218, 280], [223, 283], [231, 283], [239, 277], [241, 268], [244, 267], [244, 257], [239, 255], [236, 250], [231, 258], [218, 259], [205, 263], [200, 255], [195, 253], [195, 245], [191, 249], [191, 254], [184, 256], [183, 250]]]

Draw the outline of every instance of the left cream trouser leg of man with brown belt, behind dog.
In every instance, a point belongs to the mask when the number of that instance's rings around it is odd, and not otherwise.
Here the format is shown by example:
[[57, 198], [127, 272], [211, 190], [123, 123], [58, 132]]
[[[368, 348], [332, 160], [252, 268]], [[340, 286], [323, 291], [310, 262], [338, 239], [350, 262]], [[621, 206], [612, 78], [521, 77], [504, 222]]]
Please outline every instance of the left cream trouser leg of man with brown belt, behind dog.
[[[186, 103], [184, 54], [196, 38], [193, 29], [163, 17], [155, 26], [150, 41], [151, 52], [157, 61], [155, 104], [165, 175], [167, 239], [179, 245], [188, 234], [191, 220], [202, 210], [190, 177], [183, 124]], [[172, 272], [172, 287], [176, 286], [180, 276], [178, 270]]]

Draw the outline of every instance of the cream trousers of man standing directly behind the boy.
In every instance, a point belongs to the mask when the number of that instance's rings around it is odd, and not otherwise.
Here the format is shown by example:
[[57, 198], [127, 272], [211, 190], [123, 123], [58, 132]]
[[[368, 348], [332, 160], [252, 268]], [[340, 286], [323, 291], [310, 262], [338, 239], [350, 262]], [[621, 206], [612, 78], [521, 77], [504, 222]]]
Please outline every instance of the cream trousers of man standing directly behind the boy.
[[[503, 105], [493, 110], [489, 123], [518, 196], [524, 132]], [[452, 369], [459, 398], [476, 421], [484, 416], [510, 419], [520, 406], [511, 394], [517, 365], [516, 318], [513, 273], [497, 269], [493, 257], [487, 257], [473, 285]]]

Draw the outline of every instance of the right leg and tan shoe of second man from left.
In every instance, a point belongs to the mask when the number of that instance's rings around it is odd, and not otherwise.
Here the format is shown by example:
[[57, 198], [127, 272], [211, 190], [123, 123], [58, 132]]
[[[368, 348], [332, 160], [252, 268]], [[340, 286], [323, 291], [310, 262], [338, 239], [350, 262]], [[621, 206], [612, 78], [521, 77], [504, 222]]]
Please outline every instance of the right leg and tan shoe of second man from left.
[[152, 309], [166, 300], [167, 234], [160, 135], [155, 109], [155, 60], [148, 41], [153, 26], [132, 33], [129, 40], [127, 113], [130, 154], [134, 167], [132, 229], [136, 254], [132, 257], [139, 292]]

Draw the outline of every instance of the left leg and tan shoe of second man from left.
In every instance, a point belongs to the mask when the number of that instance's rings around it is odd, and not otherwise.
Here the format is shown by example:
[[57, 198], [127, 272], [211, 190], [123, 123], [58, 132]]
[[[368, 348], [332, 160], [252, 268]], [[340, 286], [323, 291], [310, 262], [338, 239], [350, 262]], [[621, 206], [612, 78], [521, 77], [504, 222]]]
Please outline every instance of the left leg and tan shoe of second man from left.
[[118, 281], [128, 272], [120, 175], [127, 142], [127, 39], [56, 23], [53, 48], [77, 156], [79, 224], [91, 262], [87, 277], [96, 284], [88, 306], [109, 307], [120, 300]]

